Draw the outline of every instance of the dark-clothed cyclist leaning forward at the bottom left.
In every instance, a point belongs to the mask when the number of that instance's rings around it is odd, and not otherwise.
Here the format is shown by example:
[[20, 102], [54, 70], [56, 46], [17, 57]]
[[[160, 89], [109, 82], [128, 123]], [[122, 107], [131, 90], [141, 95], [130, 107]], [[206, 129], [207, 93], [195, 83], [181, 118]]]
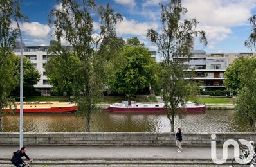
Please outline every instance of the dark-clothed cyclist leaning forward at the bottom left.
[[26, 159], [28, 159], [30, 162], [32, 162], [32, 159], [30, 159], [28, 157], [28, 155], [26, 155], [26, 147], [22, 147], [21, 150], [18, 150], [17, 152], [14, 152], [14, 155], [12, 156], [11, 162], [12, 164], [14, 164], [16, 167], [21, 167], [20, 164], [23, 164], [22, 167], [26, 166], [26, 162], [23, 161], [23, 159], [21, 159], [21, 157], [26, 157]]

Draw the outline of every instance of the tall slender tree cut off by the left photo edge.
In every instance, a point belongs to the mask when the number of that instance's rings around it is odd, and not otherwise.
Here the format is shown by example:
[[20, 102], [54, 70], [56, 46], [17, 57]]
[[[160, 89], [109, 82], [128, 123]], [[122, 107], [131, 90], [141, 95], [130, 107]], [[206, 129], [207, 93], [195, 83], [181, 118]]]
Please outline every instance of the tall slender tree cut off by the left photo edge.
[[[15, 11], [18, 19], [23, 18], [20, 13], [19, 1], [8, 1]], [[2, 108], [10, 100], [10, 91], [15, 87], [13, 78], [14, 70], [14, 55], [10, 48], [15, 46], [17, 38], [17, 28], [12, 27], [12, 10], [5, 0], [0, 0], [0, 132], [3, 130], [2, 125]]]

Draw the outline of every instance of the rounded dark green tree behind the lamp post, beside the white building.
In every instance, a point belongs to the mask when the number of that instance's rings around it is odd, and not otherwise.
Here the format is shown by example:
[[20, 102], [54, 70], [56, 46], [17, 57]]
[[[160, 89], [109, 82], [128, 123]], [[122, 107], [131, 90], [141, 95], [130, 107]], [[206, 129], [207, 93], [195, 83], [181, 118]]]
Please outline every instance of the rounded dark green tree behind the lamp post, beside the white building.
[[[21, 57], [15, 56], [14, 64], [15, 64], [15, 78], [17, 78], [17, 82], [15, 85], [15, 89], [12, 90], [12, 96], [19, 96], [19, 71], [21, 68]], [[40, 73], [35, 69], [33, 63], [28, 60], [28, 58], [23, 57], [23, 94], [24, 96], [35, 95], [35, 87], [33, 85], [37, 84], [40, 80]]]

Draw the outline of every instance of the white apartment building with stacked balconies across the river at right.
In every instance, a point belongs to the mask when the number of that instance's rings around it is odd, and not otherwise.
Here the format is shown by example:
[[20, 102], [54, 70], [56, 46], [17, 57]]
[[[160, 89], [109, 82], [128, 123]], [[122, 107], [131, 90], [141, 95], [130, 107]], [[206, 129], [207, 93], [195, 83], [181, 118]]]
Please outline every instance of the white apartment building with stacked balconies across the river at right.
[[205, 90], [223, 90], [226, 87], [223, 84], [224, 72], [233, 61], [240, 57], [250, 57], [255, 53], [210, 53], [206, 54], [203, 50], [192, 51], [192, 58], [189, 61], [183, 61], [190, 69], [194, 70], [192, 79], [200, 84]]

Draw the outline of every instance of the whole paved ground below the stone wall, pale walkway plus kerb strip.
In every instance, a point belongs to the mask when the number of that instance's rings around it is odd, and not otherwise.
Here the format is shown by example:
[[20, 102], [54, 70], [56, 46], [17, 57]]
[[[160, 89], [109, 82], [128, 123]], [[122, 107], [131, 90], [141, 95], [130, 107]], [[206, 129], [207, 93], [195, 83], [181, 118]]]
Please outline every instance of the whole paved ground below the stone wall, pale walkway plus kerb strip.
[[[12, 166], [10, 154], [18, 146], [0, 146], [0, 166]], [[27, 146], [32, 166], [218, 166], [211, 159], [210, 147], [174, 146]], [[222, 156], [217, 148], [217, 157]], [[233, 150], [228, 150], [229, 166]]]

